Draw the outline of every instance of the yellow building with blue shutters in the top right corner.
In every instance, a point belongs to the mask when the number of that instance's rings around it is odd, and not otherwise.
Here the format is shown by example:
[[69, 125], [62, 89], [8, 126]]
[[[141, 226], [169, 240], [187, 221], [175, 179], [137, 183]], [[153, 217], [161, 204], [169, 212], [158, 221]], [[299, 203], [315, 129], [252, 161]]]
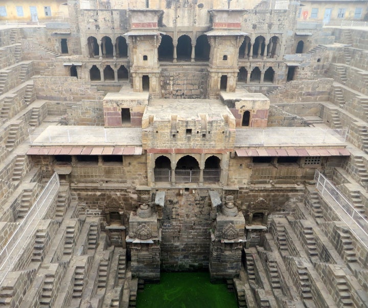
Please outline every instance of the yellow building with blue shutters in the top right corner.
[[298, 21], [320, 21], [325, 25], [338, 20], [366, 20], [366, 0], [302, 0]]

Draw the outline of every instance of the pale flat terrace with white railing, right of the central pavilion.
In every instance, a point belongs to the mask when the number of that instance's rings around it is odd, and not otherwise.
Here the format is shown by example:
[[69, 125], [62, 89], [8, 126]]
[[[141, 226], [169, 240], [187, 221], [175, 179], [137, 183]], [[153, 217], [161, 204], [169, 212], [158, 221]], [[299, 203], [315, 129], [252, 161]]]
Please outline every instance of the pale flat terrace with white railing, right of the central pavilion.
[[249, 145], [316, 145], [342, 144], [347, 128], [321, 129], [318, 127], [237, 128], [235, 146]]

